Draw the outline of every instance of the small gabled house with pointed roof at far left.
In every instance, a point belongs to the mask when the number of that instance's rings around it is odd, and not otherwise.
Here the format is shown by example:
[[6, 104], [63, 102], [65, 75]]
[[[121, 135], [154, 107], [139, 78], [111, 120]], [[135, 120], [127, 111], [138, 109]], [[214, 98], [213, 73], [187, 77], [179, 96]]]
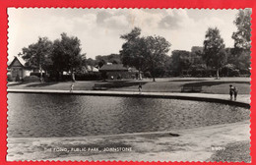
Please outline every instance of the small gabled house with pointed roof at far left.
[[25, 65], [25, 61], [20, 57], [15, 57], [11, 64], [8, 66], [8, 72], [12, 80], [23, 80], [25, 77], [29, 77], [32, 73], [32, 68]]

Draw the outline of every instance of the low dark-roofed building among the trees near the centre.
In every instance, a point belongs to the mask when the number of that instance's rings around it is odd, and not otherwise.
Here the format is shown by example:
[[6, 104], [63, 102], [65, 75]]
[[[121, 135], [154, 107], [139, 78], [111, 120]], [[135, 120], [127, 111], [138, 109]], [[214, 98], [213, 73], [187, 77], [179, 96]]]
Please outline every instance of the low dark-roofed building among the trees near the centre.
[[100, 69], [99, 72], [105, 75], [106, 79], [120, 80], [120, 79], [135, 79], [138, 70], [130, 69], [124, 67], [123, 64], [105, 64]]

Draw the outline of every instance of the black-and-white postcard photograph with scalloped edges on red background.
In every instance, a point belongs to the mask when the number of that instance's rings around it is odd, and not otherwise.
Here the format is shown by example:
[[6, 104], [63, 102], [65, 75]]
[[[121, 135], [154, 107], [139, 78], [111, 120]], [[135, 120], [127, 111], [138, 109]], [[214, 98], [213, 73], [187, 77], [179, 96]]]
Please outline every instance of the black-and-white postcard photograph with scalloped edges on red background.
[[251, 162], [251, 9], [7, 13], [7, 161]]

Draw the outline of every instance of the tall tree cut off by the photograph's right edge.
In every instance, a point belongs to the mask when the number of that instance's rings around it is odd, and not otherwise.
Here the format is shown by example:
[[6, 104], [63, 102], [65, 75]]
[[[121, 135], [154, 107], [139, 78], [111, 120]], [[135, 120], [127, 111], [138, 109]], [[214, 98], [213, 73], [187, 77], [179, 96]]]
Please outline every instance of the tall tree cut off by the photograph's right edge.
[[248, 70], [250, 67], [251, 14], [251, 9], [239, 10], [233, 22], [237, 31], [232, 34], [234, 39], [232, 54], [236, 59], [236, 66], [242, 70]]

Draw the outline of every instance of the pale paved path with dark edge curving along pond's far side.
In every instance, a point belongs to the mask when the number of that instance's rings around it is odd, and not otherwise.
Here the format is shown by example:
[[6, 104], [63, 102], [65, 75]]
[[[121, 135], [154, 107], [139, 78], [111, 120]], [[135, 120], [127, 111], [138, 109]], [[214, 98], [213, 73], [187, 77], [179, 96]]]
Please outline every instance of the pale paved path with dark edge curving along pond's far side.
[[138, 92], [138, 91], [109, 91], [109, 90], [49, 90], [49, 89], [7, 89], [8, 92], [22, 93], [58, 93], [58, 94], [85, 94], [85, 95], [105, 95], [105, 96], [145, 96], [176, 98], [199, 101], [221, 102], [238, 106], [249, 107], [250, 94], [239, 94], [236, 101], [229, 100], [228, 94], [210, 93], [179, 93], [179, 92]]

